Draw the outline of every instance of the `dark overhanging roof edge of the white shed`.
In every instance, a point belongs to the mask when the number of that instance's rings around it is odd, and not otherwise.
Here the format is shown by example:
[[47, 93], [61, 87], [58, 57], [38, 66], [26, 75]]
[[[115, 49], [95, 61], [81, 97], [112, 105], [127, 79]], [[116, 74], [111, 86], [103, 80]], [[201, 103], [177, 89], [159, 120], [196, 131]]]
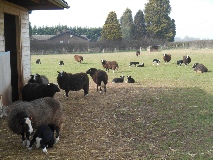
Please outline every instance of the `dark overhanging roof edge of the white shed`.
[[56, 10], [69, 8], [65, 0], [6, 0], [28, 10]]

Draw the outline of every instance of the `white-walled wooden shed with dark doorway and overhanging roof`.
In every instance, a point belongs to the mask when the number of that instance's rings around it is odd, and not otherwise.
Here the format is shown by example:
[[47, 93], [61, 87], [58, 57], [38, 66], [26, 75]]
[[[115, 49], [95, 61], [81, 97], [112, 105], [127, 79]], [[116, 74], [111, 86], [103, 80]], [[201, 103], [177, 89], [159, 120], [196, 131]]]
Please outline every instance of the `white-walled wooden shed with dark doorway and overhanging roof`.
[[31, 74], [29, 13], [69, 8], [64, 0], [0, 0], [0, 96], [3, 105], [21, 99]]

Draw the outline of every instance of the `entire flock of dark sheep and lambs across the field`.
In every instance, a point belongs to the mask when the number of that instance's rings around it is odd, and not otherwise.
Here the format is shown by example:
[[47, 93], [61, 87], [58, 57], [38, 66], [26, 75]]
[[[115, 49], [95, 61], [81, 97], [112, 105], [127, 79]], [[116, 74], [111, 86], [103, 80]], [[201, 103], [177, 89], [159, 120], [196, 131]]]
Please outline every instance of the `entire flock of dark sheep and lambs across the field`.
[[[140, 52], [136, 52], [138, 57]], [[142, 57], [142, 56], [141, 56]], [[75, 55], [74, 59], [82, 63], [83, 57]], [[165, 64], [171, 63], [171, 54], [163, 54], [162, 60]], [[57, 92], [65, 92], [65, 97], [69, 97], [71, 91], [83, 90], [84, 96], [89, 96], [89, 76], [93, 80], [91, 83], [96, 84], [96, 90], [107, 93], [107, 84], [109, 84], [109, 76], [111, 76], [115, 70], [119, 69], [118, 60], [101, 60], [100, 68], [93, 68], [88, 66], [88, 70], [80, 73], [69, 73], [66, 71], [56, 71], [58, 73], [56, 80], [57, 84], [49, 82], [49, 79], [45, 75], [38, 73], [32, 74], [29, 80], [21, 90], [22, 98], [13, 102], [7, 107], [7, 114], [3, 114], [3, 106], [0, 104], [0, 118], [4, 115], [8, 116], [8, 127], [17, 135], [21, 135], [22, 144], [29, 150], [32, 150], [34, 143], [36, 142], [36, 148], [41, 147], [44, 153], [47, 153], [47, 148], [53, 147], [53, 145], [59, 140], [62, 124], [64, 123], [63, 105], [57, 100], [54, 95]], [[99, 62], [100, 63], [100, 62]], [[153, 65], [160, 65], [160, 59], [155, 58], [152, 62]], [[189, 55], [183, 56], [182, 59], [177, 60], [177, 65], [185, 66], [191, 63], [191, 57]], [[38, 59], [36, 64], [41, 64], [41, 60]], [[64, 65], [63, 61], [59, 62], [59, 65]], [[88, 65], [88, 64], [87, 64]], [[144, 63], [128, 62], [127, 66], [130, 67], [144, 67]], [[208, 69], [202, 63], [195, 63], [192, 68], [196, 73], [207, 72]], [[109, 73], [109, 70], [113, 73]], [[127, 77], [125, 81], [124, 78]], [[135, 83], [135, 80], [131, 75], [124, 76], [121, 73], [120, 77], [113, 78], [111, 83]], [[74, 93], [73, 93], [74, 94]], [[97, 95], [98, 96], [98, 95]], [[42, 114], [41, 114], [42, 113]], [[56, 136], [54, 138], [54, 133]], [[33, 134], [33, 135], [31, 135]], [[30, 140], [30, 137], [31, 140]]]

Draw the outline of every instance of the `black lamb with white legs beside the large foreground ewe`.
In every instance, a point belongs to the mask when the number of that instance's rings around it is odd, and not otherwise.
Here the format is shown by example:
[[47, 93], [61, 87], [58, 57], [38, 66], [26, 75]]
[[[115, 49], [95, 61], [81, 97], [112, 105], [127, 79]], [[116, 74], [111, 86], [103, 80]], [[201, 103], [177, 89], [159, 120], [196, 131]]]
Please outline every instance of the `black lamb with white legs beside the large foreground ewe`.
[[41, 146], [42, 151], [47, 153], [47, 147], [52, 148], [55, 143], [54, 130], [48, 125], [41, 125], [37, 128], [33, 139], [30, 141], [29, 150], [32, 149], [33, 144], [36, 142], [36, 148]]

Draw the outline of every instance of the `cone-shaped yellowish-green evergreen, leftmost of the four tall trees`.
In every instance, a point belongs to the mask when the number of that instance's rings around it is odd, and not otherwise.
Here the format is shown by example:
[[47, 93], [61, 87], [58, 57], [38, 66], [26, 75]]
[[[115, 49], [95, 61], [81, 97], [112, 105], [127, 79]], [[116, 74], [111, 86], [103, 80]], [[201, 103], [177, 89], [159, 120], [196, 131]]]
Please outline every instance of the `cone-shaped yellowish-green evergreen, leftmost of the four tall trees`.
[[108, 14], [103, 29], [101, 31], [101, 40], [120, 41], [122, 40], [121, 26], [114, 11]]

